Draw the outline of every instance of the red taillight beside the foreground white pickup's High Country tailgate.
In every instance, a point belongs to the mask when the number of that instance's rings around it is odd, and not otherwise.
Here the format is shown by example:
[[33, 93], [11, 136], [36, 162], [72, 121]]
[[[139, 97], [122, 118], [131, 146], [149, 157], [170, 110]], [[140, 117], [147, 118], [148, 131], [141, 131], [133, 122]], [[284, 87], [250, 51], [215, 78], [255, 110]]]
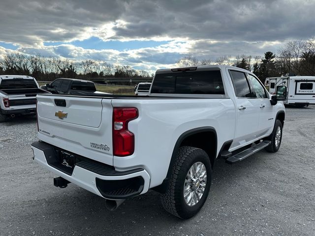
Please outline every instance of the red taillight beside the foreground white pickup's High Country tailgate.
[[129, 156], [134, 151], [134, 135], [128, 130], [128, 122], [138, 117], [134, 107], [114, 107], [113, 150], [115, 156]]

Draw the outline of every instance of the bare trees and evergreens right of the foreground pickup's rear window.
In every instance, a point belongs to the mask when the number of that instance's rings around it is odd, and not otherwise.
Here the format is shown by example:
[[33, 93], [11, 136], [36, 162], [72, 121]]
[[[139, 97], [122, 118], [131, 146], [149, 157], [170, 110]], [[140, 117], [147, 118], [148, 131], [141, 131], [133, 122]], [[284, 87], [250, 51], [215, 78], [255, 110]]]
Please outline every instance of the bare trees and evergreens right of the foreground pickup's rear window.
[[268, 77], [277, 77], [286, 73], [315, 76], [315, 39], [288, 41], [279, 49], [277, 55], [266, 52], [263, 57], [251, 55], [221, 56], [215, 60], [199, 60], [193, 56], [179, 59], [180, 67], [227, 64], [252, 71], [264, 82]]

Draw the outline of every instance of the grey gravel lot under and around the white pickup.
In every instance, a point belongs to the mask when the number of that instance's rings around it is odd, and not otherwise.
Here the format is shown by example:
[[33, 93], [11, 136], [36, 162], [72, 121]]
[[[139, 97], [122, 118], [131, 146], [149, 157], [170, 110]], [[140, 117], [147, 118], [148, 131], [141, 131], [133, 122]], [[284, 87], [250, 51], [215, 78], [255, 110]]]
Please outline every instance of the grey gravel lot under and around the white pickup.
[[287, 108], [277, 153], [260, 151], [235, 165], [219, 160], [209, 199], [195, 217], [165, 212], [159, 195], [104, 200], [32, 160], [34, 117], [0, 123], [0, 235], [315, 236], [315, 106]]

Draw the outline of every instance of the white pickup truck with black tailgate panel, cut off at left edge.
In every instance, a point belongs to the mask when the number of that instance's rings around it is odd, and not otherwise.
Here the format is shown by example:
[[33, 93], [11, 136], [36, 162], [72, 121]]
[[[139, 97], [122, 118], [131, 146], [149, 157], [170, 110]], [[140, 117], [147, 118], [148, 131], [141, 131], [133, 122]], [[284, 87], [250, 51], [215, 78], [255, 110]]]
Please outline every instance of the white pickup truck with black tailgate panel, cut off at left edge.
[[47, 93], [39, 89], [31, 76], [0, 75], [0, 122], [17, 114], [36, 114], [36, 95]]

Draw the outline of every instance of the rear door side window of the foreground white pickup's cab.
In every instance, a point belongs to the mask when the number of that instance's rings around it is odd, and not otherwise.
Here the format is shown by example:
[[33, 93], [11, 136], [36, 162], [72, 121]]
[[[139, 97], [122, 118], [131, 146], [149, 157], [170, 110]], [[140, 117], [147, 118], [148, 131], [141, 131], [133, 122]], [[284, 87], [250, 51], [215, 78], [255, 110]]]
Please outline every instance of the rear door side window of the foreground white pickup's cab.
[[252, 97], [250, 85], [247, 82], [246, 76], [241, 71], [229, 70], [233, 87], [237, 97]]

